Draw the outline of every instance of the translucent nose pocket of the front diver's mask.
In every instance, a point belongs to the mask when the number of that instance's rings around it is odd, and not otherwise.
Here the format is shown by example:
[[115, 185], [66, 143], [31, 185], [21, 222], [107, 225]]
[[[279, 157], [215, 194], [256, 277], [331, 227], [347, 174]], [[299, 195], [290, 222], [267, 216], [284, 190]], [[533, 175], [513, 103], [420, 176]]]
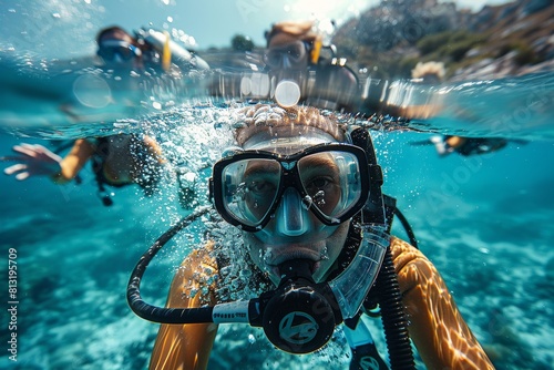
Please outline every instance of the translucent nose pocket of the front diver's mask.
[[285, 191], [276, 218], [279, 234], [298, 236], [308, 230], [307, 212], [302, 208], [300, 194], [296, 189], [289, 187]]

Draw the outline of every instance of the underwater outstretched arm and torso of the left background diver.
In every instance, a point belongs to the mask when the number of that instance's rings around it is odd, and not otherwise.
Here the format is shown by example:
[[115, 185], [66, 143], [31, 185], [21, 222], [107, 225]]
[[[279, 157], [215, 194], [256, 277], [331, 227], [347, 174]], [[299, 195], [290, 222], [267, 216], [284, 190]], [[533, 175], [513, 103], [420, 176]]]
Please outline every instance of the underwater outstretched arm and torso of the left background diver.
[[152, 195], [165, 164], [156, 141], [144, 135], [120, 134], [98, 138], [79, 138], [65, 155], [60, 157], [40, 144], [13, 146], [18, 156], [8, 157], [17, 164], [7, 167], [7, 175], [23, 181], [31, 176], [50, 176], [57, 184], [64, 184], [78, 176], [81, 168], [92, 162], [99, 186], [99, 196], [106, 206], [112, 204], [104, 186], [122, 187], [138, 184], [145, 195]]

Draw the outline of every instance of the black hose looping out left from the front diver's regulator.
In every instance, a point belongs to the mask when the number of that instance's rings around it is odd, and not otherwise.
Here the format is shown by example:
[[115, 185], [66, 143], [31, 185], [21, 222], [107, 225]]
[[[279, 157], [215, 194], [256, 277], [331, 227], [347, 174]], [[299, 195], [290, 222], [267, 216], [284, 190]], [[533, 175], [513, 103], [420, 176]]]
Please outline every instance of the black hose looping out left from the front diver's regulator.
[[[201, 307], [194, 309], [175, 308], [161, 309], [158, 307], [146, 304], [141, 297], [141, 280], [148, 266], [150, 261], [154, 258], [157, 251], [181, 229], [188, 226], [195, 219], [206, 214], [209, 206], [199, 207], [188, 216], [183, 217], [177, 224], [165, 232], [144, 253], [138, 263], [136, 264], [127, 285], [127, 302], [131, 309], [145, 320], [165, 323], [195, 323], [195, 322], [213, 322], [212, 314], [213, 307]], [[186, 319], [185, 319], [186, 318]]]

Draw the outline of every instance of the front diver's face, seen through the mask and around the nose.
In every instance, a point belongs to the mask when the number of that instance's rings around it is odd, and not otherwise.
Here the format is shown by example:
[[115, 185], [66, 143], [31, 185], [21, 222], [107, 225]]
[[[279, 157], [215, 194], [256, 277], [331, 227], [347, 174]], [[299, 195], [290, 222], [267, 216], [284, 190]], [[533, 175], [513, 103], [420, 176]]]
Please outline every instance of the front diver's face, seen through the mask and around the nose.
[[[257, 218], [267, 213], [275, 198], [279, 164], [275, 165], [277, 167], [274, 168], [267, 161], [253, 161], [245, 171], [245, 183], [254, 184], [245, 196], [245, 205]], [[321, 199], [316, 201], [318, 207], [325, 214], [331, 214], [341, 194], [339, 171], [331, 155], [306, 156], [298, 161], [297, 166], [307, 193], [312, 199], [320, 196]], [[308, 259], [312, 261], [314, 279], [324, 280], [345, 245], [349, 222], [339, 226], [322, 224], [302, 206], [298, 191], [293, 187], [285, 191], [279, 202], [271, 220], [261, 230], [244, 233], [254, 263], [278, 285], [280, 264], [290, 259]]]

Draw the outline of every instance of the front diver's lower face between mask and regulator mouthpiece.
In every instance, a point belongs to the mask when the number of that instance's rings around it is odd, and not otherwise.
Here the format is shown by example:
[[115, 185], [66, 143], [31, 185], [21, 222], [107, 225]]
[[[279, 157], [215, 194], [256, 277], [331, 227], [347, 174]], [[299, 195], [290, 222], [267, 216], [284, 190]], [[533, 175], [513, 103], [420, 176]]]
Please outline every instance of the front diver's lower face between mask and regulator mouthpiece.
[[[319, 223], [319, 220], [316, 220]], [[271, 220], [269, 224], [274, 223]], [[268, 226], [269, 226], [268, 224]], [[261, 241], [254, 233], [243, 233], [253, 261], [263, 271], [269, 275], [271, 281], [277, 286], [281, 274], [278, 265], [290, 259], [309, 259], [312, 277], [316, 282], [322, 281], [330, 273], [337, 257], [346, 243], [350, 222], [340, 224], [326, 238], [317, 239], [308, 236], [298, 237], [295, 243], [271, 244], [270, 240]]]

